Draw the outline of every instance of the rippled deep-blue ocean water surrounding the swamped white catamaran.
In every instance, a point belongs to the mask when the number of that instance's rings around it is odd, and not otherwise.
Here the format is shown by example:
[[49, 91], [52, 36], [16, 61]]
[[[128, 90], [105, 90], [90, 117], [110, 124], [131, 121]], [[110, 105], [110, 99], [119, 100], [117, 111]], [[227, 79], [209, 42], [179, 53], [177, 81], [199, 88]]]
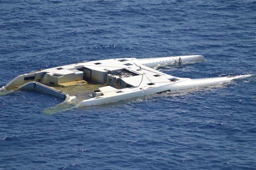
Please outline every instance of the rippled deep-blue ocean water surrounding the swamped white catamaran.
[[[202, 54], [177, 77], [256, 73], [253, 0], [1, 0], [0, 86], [42, 68]], [[0, 169], [256, 169], [256, 77], [58, 111], [0, 96]]]

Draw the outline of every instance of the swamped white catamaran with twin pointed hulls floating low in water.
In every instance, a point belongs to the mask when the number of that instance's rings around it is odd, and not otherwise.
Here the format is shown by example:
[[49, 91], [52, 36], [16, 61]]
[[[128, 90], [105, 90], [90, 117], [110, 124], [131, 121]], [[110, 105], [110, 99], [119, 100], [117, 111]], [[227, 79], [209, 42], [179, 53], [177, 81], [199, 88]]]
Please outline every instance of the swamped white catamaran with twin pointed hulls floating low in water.
[[249, 77], [238, 75], [203, 79], [174, 77], [153, 69], [157, 65], [181, 65], [183, 63], [204, 61], [202, 55], [156, 58], [119, 58], [64, 65], [19, 75], [2, 89], [36, 90], [71, 101], [76, 97], [57, 90], [56, 86], [71, 86], [86, 83], [104, 84], [92, 91], [90, 99], [76, 104], [76, 107], [102, 105], [133, 97], [205, 87]]

